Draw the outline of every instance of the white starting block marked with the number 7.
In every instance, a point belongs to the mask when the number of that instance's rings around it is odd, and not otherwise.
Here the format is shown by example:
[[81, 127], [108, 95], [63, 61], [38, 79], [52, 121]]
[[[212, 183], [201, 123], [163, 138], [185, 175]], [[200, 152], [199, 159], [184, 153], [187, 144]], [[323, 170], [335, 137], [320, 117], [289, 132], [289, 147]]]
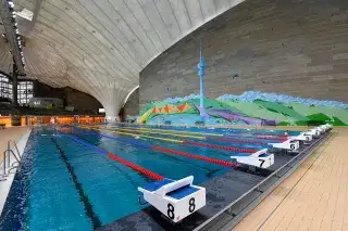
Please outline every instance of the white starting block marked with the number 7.
[[260, 168], [269, 168], [274, 164], [274, 154], [268, 154], [268, 149], [260, 150], [251, 155], [247, 153], [236, 154], [231, 156], [231, 158], [236, 159], [238, 163], [252, 165]]

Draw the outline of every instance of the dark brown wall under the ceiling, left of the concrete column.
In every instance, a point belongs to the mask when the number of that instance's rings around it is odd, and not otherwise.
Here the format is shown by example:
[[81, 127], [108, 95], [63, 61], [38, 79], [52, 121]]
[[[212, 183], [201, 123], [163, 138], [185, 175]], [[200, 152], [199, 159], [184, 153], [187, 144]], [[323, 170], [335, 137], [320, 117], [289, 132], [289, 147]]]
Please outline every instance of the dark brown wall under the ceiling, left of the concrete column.
[[39, 81], [34, 82], [34, 97], [59, 98], [64, 101], [65, 106], [75, 110], [91, 110], [98, 112], [102, 105], [94, 97], [72, 88], [52, 88]]

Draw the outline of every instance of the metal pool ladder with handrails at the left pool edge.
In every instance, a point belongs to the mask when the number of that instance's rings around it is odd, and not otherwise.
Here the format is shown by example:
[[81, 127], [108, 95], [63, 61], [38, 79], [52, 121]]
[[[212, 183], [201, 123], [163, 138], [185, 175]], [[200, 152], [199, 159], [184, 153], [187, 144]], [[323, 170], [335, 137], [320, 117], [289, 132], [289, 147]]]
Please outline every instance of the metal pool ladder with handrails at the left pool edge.
[[[8, 141], [8, 149], [2, 153], [3, 161], [0, 163], [0, 181], [5, 181], [11, 171], [21, 166], [22, 156], [17, 146], [17, 143], [14, 140]], [[14, 158], [14, 162], [11, 164], [11, 159]], [[2, 167], [2, 168], [1, 168]]]

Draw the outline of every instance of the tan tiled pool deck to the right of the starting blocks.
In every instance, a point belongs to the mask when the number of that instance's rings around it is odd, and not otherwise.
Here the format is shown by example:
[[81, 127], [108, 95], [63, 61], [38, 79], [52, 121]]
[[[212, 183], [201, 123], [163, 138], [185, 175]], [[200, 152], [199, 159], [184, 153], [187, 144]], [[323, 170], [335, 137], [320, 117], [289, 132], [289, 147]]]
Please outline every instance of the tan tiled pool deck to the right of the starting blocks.
[[332, 132], [233, 230], [348, 230], [348, 128]]

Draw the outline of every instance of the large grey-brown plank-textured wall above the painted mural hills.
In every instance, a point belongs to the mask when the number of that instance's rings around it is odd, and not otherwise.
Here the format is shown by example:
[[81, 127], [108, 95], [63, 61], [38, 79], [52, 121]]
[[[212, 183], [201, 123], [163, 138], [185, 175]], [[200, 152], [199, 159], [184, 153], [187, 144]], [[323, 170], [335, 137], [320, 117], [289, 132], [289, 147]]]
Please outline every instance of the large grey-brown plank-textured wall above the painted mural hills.
[[348, 101], [348, 1], [246, 0], [162, 53], [140, 73], [140, 108], [199, 93], [247, 90]]

